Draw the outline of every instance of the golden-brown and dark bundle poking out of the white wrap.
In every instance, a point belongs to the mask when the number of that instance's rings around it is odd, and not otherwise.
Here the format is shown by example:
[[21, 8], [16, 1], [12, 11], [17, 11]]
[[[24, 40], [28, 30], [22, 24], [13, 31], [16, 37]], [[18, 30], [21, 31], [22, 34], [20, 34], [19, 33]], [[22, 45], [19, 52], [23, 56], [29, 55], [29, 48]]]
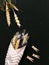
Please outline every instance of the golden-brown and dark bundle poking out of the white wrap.
[[17, 32], [11, 40], [14, 49], [27, 45], [28, 37], [28, 33], [25, 34], [24, 31], [22, 33]]

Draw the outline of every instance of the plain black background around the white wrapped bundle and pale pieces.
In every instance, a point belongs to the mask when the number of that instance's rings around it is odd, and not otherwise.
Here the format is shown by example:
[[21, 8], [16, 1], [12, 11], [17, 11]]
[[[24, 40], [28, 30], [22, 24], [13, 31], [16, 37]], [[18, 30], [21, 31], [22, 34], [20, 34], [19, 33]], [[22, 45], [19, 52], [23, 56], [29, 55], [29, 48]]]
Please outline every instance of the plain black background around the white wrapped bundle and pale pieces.
[[[26, 29], [29, 32], [29, 40], [20, 65], [48, 65], [49, 62], [49, 0], [17, 0], [17, 13], [22, 27], [19, 29], [14, 21], [11, 11], [11, 26], [6, 23], [5, 12], [0, 11], [0, 65], [4, 65], [6, 52], [11, 38], [17, 31]], [[39, 48], [36, 53], [31, 46]], [[33, 53], [40, 55], [40, 60], [32, 63], [26, 59]]]

